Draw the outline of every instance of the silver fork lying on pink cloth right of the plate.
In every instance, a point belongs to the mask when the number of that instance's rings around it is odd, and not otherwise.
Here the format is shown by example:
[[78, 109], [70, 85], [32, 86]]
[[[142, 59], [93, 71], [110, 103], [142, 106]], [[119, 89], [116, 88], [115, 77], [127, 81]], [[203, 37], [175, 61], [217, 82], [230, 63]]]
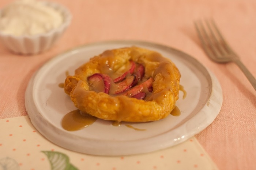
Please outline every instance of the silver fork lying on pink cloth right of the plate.
[[236, 63], [256, 90], [256, 79], [240, 61], [238, 55], [230, 48], [229, 44], [227, 44], [214, 21], [212, 19], [206, 20], [204, 24], [202, 21], [196, 21], [195, 27], [208, 57], [217, 63]]

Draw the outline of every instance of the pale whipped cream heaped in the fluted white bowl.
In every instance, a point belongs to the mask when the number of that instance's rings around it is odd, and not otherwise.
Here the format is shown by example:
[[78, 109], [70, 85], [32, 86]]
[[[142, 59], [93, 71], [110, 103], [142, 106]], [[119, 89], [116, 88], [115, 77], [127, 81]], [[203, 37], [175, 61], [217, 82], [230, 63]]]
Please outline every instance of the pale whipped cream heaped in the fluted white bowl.
[[63, 23], [63, 16], [42, 1], [18, 0], [1, 11], [0, 30], [22, 36], [46, 33]]

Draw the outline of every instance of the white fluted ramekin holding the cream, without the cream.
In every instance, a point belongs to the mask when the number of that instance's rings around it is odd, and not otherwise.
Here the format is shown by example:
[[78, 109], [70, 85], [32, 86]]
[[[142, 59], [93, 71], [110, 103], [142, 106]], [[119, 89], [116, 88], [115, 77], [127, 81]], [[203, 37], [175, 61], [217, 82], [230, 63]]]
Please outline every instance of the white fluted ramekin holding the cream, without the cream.
[[[0, 31], [2, 43], [16, 54], [33, 55], [49, 50], [63, 35], [71, 23], [71, 13], [61, 4], [43, 1], [45, 5], [56, 9], [63, 16], [62, 24], [48, 32], [35, 35], [15, 36]], [[0, 11], [1, 17], [1, 11]]]

